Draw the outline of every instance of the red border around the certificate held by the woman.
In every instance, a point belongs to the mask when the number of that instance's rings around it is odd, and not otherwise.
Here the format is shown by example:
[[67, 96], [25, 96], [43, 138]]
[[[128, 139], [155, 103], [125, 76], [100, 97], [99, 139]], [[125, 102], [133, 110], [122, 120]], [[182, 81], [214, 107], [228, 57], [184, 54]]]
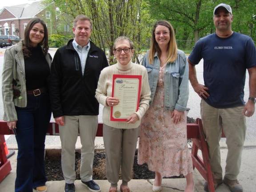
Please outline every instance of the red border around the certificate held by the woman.
[[[140, 92], [141, 92], [141, 81], [142, 81], [142, 76], [141, 75], [118, 75], [118, 74], [113, 74], [113, 80], [112, 80], [112, 97], [114, 97], [114, 91], [115, 91], [115, 80], [117, 78], [121, 79], [138, 79], [139, 80], [139, 88], [138, 88], [138, 98], [137, 98], [137, 108], [136, 111], [138, 111], [138, 108], [140, 106]], [[132, 115], [132, 114], [131, 114]], [[113, 107], [111, 107], [111, 112], [110, 112], [110, 120], [111, 121], [126, 121], [127, 119], [122, 119], [122, 118], [115, 118], [113, 117]]]

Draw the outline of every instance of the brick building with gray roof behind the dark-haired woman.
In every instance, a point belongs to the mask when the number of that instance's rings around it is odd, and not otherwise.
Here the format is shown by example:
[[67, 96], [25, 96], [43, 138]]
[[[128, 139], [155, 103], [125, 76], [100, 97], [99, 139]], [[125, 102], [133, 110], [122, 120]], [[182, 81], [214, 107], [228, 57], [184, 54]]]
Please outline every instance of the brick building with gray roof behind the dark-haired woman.
[[4, 7], [0, 11], [0, 35], [17, 35], [23, 39], [28, 21], [33, 17], [43, 19], [47, 24], [48, 34], [51, 35], [56, 31], [59, 16], [59, 8], [53, 4], [45, 5], [42, 1]]

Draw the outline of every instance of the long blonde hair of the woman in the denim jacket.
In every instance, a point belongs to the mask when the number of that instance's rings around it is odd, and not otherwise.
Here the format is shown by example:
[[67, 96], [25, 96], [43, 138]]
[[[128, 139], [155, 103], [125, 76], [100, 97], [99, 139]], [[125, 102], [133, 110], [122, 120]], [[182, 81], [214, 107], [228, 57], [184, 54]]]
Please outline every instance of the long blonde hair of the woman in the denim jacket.
[[156, 42], [156, 36], [155, 36], [155, 31], [156, 27], [158, 25], [163, 25], [169, 29], [170, 32], [170, 41], [168, 43], [168, 50], [167, 50], [167, 60], [166, 62], [173, 62], [177, 58], [177, 44], [176, 44], [176, 38], [175, 38], [175, 32], [172, 27], [172, 25], [166, 21], [166, 20], [160, 20], [157, 21], [156, 24], [154, 25], [154, 28], [152, 30], [152, 37], [151, 37], [151, 44], [150, 44], [150, 49], [149, 49], [149, 63], [152, 64], [154, 60], [154, 55], [157, 52], [158, 56], [161, 56], [161, 49], [159, 45]]

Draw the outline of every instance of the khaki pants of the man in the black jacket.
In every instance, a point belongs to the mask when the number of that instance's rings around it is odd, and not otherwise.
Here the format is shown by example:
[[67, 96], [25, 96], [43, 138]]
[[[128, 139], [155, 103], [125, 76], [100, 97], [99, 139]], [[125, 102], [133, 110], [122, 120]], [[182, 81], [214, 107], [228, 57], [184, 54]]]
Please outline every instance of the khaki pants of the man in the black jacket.
[[64, 116], [64, 126], [60, 126], [61, 168], [65, 182], [74, 183], [75, 148], [78, 134], [82, 144], [80, 178], [92, 180], [94, 140], [98, 128], [98, 116]]

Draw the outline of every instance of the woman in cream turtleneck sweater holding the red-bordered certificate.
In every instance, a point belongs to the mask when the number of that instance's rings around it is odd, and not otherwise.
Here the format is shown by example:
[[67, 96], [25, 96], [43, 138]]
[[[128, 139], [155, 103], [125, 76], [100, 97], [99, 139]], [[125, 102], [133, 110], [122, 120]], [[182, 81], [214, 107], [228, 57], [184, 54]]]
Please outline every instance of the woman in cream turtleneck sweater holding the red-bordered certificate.
[[[139, 64], [132, 63], [134, 52], [132, 41], [125, 36], [120, 36], [115, 40], [113, 50], [117, 63], [101, 71], [95, 97], [100, 104], [104, 105], [103, 140], [106, 151], [107, 178], [111, 184], [109, 192], [117, 192], [120, 166], [122, 175], [120, 191], [130, 192], [128, 181], [132, 179], [140, 120], [148, 109], [150, 88], [147, 70]], [[113, 79], [116, 75], [123, 77]], [[133, 77], [140, 77], [140, 81], [136, 81], [136, 78], [132, 79]], [[136, 84], [136, 82], [141, 83]], [[122, 92], [123, 88], [126, 88], [124, 92]], [[118, 92], [117, 95], [120, 96], [113, 96], [113, 91]], [[139, 92], [138, 100], [132, 102], [130, 97], [134, 96], [136, 92]], [[118, 119], [136, 103], [138, 103], [138, 107], [134, 112], [125, 119]], [[116, 107], [120, 107], [120, 111], [113, 113]]]

